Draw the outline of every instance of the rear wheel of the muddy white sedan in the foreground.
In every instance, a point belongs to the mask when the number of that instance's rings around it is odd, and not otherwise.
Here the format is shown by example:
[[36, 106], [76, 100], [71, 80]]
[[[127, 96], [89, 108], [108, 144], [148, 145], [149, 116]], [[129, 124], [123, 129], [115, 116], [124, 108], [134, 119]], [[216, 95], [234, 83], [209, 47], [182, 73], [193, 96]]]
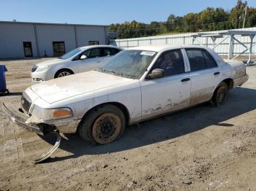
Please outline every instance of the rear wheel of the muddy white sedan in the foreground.
[[227, 93], [227, 84], [225, 82], [221, 82], [214, 91], [214, 95], [211, 98], [211, 102], [214, 104], [214, 106], [222, 106], [225, 104], [225, 101], [227, 100]]

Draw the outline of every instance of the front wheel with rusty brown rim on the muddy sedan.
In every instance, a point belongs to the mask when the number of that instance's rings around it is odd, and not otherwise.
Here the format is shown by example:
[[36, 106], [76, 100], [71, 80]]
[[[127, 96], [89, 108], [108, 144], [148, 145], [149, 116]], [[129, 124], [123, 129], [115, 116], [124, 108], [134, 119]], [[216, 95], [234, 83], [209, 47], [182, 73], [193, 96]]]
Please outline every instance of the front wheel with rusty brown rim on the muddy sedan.
[[83, 118], [79, 134], [91, 144], [108, 144], [124, 133], [125, 117], [121, 109], [111, 104], [97, 106]]

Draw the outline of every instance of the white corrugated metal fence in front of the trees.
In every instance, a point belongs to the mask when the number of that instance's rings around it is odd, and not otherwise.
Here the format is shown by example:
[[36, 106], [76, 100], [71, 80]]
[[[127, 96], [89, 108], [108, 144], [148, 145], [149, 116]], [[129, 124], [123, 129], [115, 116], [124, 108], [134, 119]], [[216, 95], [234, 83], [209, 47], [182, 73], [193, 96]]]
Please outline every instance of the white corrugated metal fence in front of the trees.
[[[234, 29], [238, 31], [256, 31], [256, 27], [253, 28], [240, 28]], [[205, 33], [208, 34], [219, 34], [225, 31], [208, 31]], [[162, 35], [162, 36], [149, 36], [143, 38], [135, 38], [135, 39], [116, 39], [110, 40], [110, 44], [115, 45], [117, 47], [138, 47], [138, 46], [147, 46], [147, 45], [157, 45], [157, 44], [171, 44], [171, 45], [180, 45], [180, 44], [198, 44], [197, 41], [193, 42], [192, 35], [196, 33], [189, 33], [189, 34], [174, 34], [174, 35]], [[215, 44], [222, 42], [226, 36], [223, 38], [216, 39]], [[214, 42], [210, 37], [197, 37], [197, 39], [202, 42], [202, 44], [206, 47], [214, 47]], [[245, 45], [250, 44], [250, 39], [248, 36], [237, 36], [240, 42], [244, 43]], [[256, 38], [254, 39], [254, 43], [256, 43]], [[215, 47], [214, 49], [219, 55], [228, 55], [229, 52], [229, 39], [225, 39], [219, 46]], [[246, 50], [244, 46], [241, 44], [234, 42], [233, 44], [233, 55], [238, 55], [239, 53]], [[243, 55], [248, 55], [249, 51], [244, 52]], [[252, 52], [256, 52], [256, 47], [254, 46]]]

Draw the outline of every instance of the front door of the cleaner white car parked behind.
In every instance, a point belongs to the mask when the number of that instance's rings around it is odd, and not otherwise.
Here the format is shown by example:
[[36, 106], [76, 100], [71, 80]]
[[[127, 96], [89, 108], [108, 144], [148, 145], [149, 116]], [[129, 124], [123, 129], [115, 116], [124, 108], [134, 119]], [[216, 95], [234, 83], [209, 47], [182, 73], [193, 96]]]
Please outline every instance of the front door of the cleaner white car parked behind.
[[[81, 59], [86, 55], [85, 59]], [[72, 61], [72, 67], [75, 73], [99, 69], [102, 66], [102, 48], [93, 48], [81, 53], [75, 61]]]

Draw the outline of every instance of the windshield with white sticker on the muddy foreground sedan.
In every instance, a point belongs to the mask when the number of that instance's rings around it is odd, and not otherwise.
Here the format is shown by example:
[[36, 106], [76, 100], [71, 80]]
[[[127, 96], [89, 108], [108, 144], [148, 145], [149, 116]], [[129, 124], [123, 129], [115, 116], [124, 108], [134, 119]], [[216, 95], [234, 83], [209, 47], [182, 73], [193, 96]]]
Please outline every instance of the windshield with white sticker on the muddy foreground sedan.
[[145, 50], [123, 50], [102, 68], [102, 72], [139, 79], [148, 68], [157, 52]]

